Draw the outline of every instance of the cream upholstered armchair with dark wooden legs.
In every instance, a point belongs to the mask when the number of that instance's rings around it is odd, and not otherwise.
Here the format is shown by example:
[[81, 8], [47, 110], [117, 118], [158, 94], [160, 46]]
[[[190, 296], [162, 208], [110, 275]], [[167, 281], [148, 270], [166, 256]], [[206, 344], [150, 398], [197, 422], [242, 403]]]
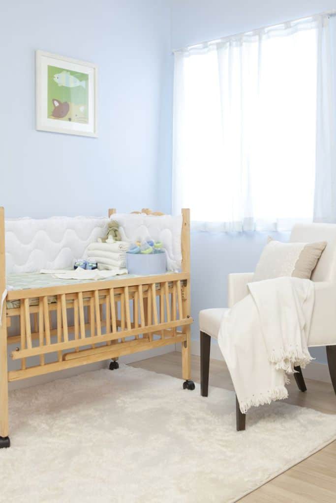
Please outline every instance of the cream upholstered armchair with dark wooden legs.
[[[333, 389], [336, 394], [336, 224], [297, 224], [291, 242], [326, 241], [327, 245], [314, 269], [311, 280], [315, 285], [315, 303], [311, 320], [308, 347], [326, 346], [327, 360]], [[247, 283], [253, 273], [229, 274], [229, 307], [248, 294]], [[199, 312], [201, 395], [208, 396], [211, 338], [217, 338], [225, 308], [204, 309]], [[294, 374], [300, 391], [306, 385], [300, 367]], [[237, 430], [245, 430], [245, 414], [236, 399]]]

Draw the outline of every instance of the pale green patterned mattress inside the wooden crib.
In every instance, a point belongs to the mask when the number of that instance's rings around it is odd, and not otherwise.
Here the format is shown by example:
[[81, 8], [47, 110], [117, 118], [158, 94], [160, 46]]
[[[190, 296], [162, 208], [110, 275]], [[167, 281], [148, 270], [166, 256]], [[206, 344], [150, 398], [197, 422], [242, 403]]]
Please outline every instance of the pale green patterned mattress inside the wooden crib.
[[[167, 272], [166, 274], [171, 274]], [[122, 276], [110, 276], [109, 278], [101, 278], [96, 281], [111, 281], [120, 280], [121, 278], [137, 278], [139, 276], [135, 274], [123, 274]], [[26, 290], [35, 288], [48, 288], [54, 286], [64, 286], [64, 285], [76, 285], [77, 283], [83, 283], [83, 280], [62, 280], [59, 278], [53, 278], [51, 274], [40, 274], [40, 273], [13, 273], [7, 275], [7, 289], [8, 290]], [[90, 280], [87, 281], [90, 283]], [[159, 287], [159, 286], [158, 286]], [[56, 296], [48, 297], [48, 304], [57, 302]], [[38, 305], [39, 300], [30, 299], [29, 304], [31, 306]], [[20, 307], [20, 300], [9, 300], [7, 301], [7, 308], [17, 308]]]

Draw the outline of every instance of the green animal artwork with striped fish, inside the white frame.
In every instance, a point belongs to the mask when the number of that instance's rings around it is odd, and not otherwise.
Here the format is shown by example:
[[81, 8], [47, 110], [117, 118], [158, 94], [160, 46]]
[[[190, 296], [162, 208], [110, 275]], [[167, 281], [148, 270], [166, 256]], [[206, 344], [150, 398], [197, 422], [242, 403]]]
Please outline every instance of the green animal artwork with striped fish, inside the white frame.
[[48, 65], [48, 117], [87, 124], [89, 122], [88, 88], [89, 75], [87, 73]]

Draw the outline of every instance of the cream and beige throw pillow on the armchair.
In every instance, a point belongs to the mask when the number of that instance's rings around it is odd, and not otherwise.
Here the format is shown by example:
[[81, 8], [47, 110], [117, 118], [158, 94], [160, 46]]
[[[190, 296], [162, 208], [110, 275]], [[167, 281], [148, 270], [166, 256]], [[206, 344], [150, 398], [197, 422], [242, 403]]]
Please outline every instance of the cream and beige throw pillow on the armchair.
[[268, 237], [255, 269], [253, 281], [270, 280], [282, 276], [310, 279], [325, 246], [326, 241], [282, 243]]

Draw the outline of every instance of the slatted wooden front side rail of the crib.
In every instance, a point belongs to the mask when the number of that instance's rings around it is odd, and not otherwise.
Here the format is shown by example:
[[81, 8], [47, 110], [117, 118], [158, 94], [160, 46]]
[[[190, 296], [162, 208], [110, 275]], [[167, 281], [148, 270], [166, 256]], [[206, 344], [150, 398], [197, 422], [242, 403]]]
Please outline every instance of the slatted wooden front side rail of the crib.
[[[11, 356], [21, 360], [21, 369], [9, 372], [9, 380], [89, 363], [85, 358], [99, 361], [186, 341], [192, 323], [185, 309], [188, 281], [186, 274], [172, 274], [100, 282], [98, 287], [69, 285], [51, 297], [43, 288], [37, 304], [37, 292], [20, 291], [20, 308], [9, 309], [8, 316], [20, 318], [19, 346]], [[69, 287], [77, 291], [66, 293]], [[51, 353], [56, 361], [46, 363]], [[32, 357], [39, 357], [38, 366], [27, 366]]]

